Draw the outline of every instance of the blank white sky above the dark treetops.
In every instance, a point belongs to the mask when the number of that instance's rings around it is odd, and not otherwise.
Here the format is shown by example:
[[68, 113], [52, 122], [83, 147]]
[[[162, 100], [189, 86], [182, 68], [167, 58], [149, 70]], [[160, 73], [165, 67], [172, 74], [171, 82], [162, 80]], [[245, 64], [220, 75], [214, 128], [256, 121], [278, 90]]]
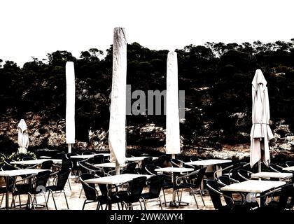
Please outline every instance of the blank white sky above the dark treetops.
[[293, 0], [0, 0], [0, 59], [22, 66], [55, 50], [106, 50], [113, 28], [128, 43], [174, 50], [205, 42], [294, 38]]

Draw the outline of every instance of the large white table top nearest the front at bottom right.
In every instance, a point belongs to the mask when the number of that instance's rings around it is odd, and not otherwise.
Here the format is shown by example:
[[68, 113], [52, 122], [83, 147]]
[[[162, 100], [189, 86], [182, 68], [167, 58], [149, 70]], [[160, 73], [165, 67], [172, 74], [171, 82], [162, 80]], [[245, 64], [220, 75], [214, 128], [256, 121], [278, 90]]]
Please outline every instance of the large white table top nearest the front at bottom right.
[[228, 186], [221, 188], [221, 190], [262, 193], [273, 188], [279, 188], [280, 186], [283, 186], [285, 184], [285, 181], [249, 180], [240, 183], [230, 184]]

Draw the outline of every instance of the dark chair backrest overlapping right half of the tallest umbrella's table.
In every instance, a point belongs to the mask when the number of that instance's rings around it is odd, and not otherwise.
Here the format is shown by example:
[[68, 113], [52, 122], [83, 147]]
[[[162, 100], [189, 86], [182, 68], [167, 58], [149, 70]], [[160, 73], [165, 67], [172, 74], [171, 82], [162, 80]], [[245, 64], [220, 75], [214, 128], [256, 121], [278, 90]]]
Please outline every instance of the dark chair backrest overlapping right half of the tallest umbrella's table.
[[129, 187], [127, 188], [128, 197], [125, 199], [126, 203], [139, 202], [141, 193], [146, 185], [146, 176], [140, 176], [129, 181]]

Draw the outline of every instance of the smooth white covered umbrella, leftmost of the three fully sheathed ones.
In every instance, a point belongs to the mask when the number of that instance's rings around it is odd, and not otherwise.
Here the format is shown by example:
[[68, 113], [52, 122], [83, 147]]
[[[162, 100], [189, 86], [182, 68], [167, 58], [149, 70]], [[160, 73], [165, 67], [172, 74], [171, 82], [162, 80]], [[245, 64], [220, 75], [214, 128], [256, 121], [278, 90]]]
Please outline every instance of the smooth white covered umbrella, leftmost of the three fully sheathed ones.
[[71, 153], [71, 144], [75, 143], [75, 96], [76, 86], [74, 77], [73, 62], [66, 62], [65, 66], [66, 76], [66, 118], [65, 118], [65, 136], [66, 144], [69, 146], [68, 152]]

